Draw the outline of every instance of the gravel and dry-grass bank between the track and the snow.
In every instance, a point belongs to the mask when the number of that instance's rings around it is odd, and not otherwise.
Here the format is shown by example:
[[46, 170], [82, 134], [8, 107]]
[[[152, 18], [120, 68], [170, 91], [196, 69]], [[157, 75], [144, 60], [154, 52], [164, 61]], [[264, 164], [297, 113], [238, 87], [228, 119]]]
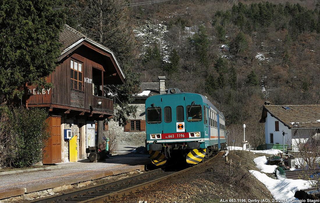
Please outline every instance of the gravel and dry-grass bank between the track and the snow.
[[229, 165], [225, 163], [223, 152], [220, 152], [206, 166], [168, 178], [149, 189], [115, 202], [213, 203], [250, 200], [261, 202], [261, 199], [273, 199], [267, 188], [248, 172], [251, 169], [258, 170], [253, 159], [262, 155], [265, 154], [232, 151], [229, 158], [233, 160], [233, 164]]

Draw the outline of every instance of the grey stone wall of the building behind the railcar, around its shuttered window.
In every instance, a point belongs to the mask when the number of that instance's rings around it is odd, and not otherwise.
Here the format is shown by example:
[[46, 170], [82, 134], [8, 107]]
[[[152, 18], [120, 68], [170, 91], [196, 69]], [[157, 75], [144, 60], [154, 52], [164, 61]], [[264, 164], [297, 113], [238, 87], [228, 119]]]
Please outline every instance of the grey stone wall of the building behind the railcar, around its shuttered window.
[[[131, 104], [137, 106], [136, 117], [130, 116], [129, 119], [146, 120], [145, 104]], [[108, 122], [108, 131], [114, 131], [118, 138], [119, 145], [145, 146], [146, 131], [141, 132], [124, 132], [124, 127], [113, 120]]]

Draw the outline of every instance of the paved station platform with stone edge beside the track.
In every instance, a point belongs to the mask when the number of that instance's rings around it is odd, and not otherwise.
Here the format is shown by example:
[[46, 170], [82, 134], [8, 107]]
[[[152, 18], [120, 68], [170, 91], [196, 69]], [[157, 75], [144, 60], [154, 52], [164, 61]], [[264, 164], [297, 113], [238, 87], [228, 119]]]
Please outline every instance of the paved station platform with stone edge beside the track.
[[84, 186], [81, 183], [90, 184], [90, 181], [96, 179], [144, 171], [145, 165], [151, 163], [149, 154], [134, 154], [132, 151], [132, 146], [121, 146], [116, 154], [104, 162], [90, 163], [85, 159], [48, 165], [35, 171], [1, 172], [0, 202], [53, 188], [53, 192], [59, 193], [59, 190], [68, 189], [70, 185], [81, 187]]

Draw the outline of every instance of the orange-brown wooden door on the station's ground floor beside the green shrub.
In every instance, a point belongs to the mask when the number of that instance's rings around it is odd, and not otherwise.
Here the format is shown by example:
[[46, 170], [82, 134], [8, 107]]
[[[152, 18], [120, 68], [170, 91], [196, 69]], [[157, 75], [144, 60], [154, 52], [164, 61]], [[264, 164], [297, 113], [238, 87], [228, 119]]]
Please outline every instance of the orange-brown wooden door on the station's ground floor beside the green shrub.
[[49, 125], [51, 127], [51, 138], [48, 140], [45, 151], [48, 154], [42, 163], [52, 164], [61, 162], [61, 117], [51, 116], [49, 119]]

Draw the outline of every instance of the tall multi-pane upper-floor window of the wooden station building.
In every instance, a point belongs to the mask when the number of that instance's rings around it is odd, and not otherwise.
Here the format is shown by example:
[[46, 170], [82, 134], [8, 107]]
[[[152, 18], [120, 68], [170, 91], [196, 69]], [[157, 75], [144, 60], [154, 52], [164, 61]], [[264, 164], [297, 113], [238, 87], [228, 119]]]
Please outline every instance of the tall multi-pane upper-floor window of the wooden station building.
[[71, 59], [71, 88], [83, 91], [82, 83], [82, 63]]

